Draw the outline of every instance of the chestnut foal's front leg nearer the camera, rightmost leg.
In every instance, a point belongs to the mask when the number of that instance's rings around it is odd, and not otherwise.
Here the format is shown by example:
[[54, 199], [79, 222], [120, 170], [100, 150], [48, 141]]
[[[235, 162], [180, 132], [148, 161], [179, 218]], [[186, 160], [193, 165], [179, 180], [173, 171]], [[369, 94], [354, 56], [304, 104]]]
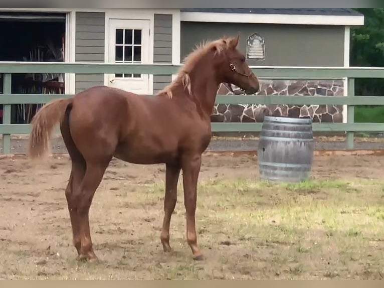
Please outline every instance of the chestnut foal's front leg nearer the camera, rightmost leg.
[[186, 240], [195, 260], [202, 260], [203, 253], [197, 243], [195, 212], [197, 185], [202, 165], [202, 155], [192, 154], [182, 157], [182, 180], [184, 188], [184, 206], [186, 211]]

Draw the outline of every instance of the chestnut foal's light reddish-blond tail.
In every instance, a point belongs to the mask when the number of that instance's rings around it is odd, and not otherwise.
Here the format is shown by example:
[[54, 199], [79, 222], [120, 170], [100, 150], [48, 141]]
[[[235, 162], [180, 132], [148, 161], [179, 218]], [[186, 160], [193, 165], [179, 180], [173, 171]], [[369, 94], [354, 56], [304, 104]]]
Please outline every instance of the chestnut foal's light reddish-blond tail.
[[72, 98], [61, 98], [46, 103], [33, 117], [32, 130], [29, 137], [28, 156], [36, 159], [49, 151], [49, 140], [57, 123], [63, 121], [68, 104]]

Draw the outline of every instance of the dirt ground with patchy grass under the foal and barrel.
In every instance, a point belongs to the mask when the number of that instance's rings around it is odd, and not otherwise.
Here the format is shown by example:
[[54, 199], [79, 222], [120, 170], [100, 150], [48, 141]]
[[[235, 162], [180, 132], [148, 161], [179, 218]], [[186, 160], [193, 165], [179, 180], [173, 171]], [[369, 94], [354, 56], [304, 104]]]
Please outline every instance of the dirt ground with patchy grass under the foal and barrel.
[[383, 156], [318, 156], [312, 179], [258, 179], [256, 157], [205, 156], [195, 261], [181, 180], [171, 246], [159, 240], [164, 166], [113, 160], [90, 211], [99, 263], [77, 263], [64, 189], [67, 157], [0, 159], [2, 279], [382, 279]]

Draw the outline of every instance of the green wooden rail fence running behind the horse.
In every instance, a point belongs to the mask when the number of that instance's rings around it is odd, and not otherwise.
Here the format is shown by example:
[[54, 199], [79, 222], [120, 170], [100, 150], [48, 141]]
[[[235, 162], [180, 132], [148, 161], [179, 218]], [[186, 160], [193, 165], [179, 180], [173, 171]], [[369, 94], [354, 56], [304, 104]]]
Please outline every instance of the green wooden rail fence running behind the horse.
[[[3, 154], [11, 152], [11, 134], [27, 134], [29, 124], [11, 124], [11, 104], [46, 103], [68, 94], [11, 94], [14, 73], [71, 73], [71, 74], [113, 74], [142, 73], [153, 75], [176, 74], [179, 65], [169, 64], [106, 64], [106, 63], [52, 63], [52, 62], [0, 62], [3, 74]], [[384, 105], [382, 96], [355, 96], [355, 78], [384, 78], [384, 68], [370, 67], [252, 67], [260, 79], [342, 79], [347, 78], [347, 96], [237, 96], [218, 95], [216, 103], [224, 104], [334, 104], [347, 105], [346, 123], [313, 123], [314, 131], [345, 132], [346, 148], [353, 149], [353, 132], [384, 131], [384, 123], [354, 123], [355, 105]], [[214, 132], [254, 132], [261, 130], [262, 123], [212, 123]]]

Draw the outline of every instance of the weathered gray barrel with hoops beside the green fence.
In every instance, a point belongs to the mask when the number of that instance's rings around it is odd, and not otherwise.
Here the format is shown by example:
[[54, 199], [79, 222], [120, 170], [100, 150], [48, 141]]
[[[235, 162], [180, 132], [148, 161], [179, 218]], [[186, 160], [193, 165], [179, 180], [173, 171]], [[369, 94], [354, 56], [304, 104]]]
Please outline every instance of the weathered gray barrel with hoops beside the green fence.
[[307, 179], [313, 150], [311, 118], [265, 116], [257, 152], [260, 178], [277, 182]]

